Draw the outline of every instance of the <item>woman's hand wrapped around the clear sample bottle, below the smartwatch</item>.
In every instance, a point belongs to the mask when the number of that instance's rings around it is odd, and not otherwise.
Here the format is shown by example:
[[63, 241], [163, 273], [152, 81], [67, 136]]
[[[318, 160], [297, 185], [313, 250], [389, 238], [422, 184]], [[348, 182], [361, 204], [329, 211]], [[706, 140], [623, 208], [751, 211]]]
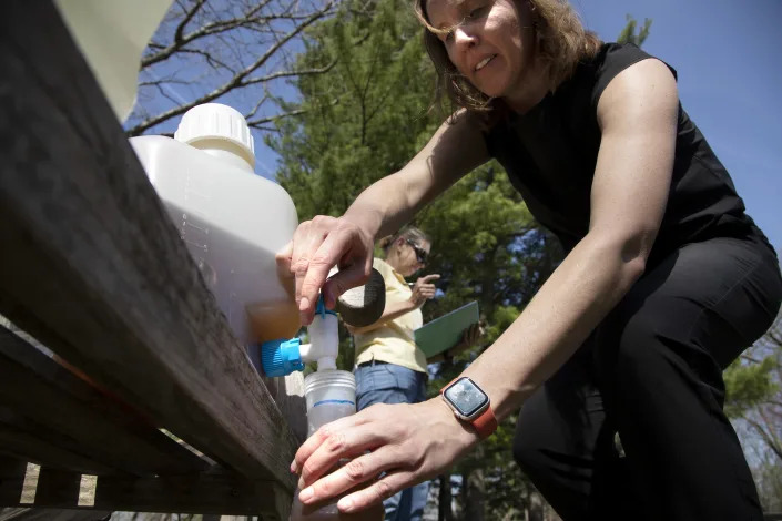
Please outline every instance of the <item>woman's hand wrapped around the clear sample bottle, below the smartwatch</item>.
[[298, 499], [304, 504], [376, 480], [339, 500], [341, 511], [353, 512], [437, 476], [478, 440], [440, 397], [415, 405], [378, 403], [318, 429], [296, 452], [291, 471], [301, 473]]

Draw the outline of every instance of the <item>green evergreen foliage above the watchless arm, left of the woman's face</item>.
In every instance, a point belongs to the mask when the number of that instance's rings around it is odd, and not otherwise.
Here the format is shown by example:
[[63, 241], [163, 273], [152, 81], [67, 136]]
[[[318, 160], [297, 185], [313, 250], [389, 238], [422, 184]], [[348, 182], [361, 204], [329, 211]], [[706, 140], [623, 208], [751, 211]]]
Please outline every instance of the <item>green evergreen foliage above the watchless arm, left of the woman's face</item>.
[[435, 122], [426, 100], [431, 71], [412, 11], [382, 0], [370, 13], [346, 4], [309, 34], [302, 67], [336, 61], [324, 75], [301, 78], [297, 120], [267, 143], [280, 156], [277, 181], [299, 219], [341, 215], [368, 185], [400, 168]]

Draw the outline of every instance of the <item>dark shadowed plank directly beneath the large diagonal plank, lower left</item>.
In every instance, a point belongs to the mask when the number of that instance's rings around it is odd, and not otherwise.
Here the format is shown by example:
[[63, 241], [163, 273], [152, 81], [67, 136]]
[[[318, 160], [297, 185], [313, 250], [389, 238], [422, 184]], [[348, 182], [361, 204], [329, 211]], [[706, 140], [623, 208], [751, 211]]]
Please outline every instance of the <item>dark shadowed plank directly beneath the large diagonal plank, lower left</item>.
[[[49, 445], [136, 476], [184, 473], [209, 467], [115, 398], [2, 327], [0, 381], [0, 405], [34, 422], [35, 437]], [[54, 461], [44, 464], [59, 467]], [[70, 469], [105, 473], [94, 468]]]

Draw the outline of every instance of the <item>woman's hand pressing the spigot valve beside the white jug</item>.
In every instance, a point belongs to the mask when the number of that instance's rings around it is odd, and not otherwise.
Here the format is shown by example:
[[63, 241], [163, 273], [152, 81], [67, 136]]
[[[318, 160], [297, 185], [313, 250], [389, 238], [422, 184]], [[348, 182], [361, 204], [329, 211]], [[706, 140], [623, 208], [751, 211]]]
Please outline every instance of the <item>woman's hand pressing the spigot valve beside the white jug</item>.
[[[369, 278], [373, 252], [372, 235], [345, 217], [318, 215], [298, 225], [276, 260], [281, 269], [296, 278], [303, 326], [313, 319], [321, 288], [326, 308], [334, 309], [339, 295]], [[328, 278], [328, 272], [337, 265], [339, 272]]]

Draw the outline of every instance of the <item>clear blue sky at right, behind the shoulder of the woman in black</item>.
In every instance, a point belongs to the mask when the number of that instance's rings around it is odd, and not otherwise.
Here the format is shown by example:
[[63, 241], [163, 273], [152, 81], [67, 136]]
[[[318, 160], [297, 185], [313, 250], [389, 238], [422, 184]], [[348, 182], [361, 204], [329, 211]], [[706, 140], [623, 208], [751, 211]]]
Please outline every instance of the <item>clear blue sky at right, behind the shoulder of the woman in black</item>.
[[571, 0], [613, 40], [626, 14], [652, 19], [643, 49], [679, 74], [679, 96], [748, 213], [782, 252], [782, 1]]

